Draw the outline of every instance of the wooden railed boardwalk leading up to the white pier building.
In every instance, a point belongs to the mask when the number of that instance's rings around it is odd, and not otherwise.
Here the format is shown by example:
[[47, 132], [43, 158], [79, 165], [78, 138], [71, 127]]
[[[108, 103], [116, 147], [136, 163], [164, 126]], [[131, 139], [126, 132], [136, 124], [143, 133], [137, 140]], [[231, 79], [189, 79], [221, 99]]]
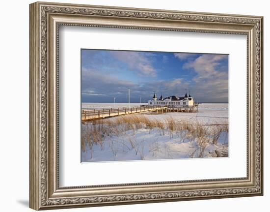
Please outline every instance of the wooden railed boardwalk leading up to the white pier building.
[[91, 109], [81, 111], [81, 120], [90, 121], [94, 119], [108, 118], [126, 114], [140, 114], [140, 113], [163, 113], [167, 111], [167, 106], [140, 106], [140, 107], [121, 107], [110, 109]]

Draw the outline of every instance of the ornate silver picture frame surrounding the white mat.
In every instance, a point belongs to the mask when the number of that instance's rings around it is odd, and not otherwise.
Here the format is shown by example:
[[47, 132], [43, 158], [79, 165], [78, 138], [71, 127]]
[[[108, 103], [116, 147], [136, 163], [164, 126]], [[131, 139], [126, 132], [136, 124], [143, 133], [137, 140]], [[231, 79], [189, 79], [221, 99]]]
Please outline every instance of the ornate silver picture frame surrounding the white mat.
[[[59, 186], [59, 26], [246, 35], [246, 177]], [[80, 71], [80, 70], [79, 70]], [[79, 83], [79, 82], [78, 82]], [[78, 141], [80, 145], [80, 141]], [[34, 210], [263, 195], [263, 17], [30, 4], [30, 201]]]

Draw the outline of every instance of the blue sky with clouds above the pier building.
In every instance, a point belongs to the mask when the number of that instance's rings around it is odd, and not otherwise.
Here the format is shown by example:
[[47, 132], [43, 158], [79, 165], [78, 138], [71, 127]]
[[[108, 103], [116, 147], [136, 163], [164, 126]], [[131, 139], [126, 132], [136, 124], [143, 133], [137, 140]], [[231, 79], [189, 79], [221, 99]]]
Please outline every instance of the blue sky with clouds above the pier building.
[[81, 101], [146, 102], [184, 96], [198, 102], [228, 102], [228, 55], [81, 50]]

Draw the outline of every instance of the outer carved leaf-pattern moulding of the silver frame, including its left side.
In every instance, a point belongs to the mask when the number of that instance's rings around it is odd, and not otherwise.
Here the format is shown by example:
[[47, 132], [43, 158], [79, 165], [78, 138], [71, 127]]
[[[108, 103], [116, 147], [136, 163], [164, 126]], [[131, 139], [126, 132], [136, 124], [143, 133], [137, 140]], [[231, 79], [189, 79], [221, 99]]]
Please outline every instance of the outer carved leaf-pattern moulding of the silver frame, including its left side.
[[[255, 62], [257, 66], [256, 77], [257, 80], [254, 84], [258, 94], [258, 102], [256, 102], [257, 112], [259, 119], [257, 120], [257, 132], [258, 138], [256, 141], [256, 156], [259, 161], [256, 165], [255, 179], [257, 186], [254, 188], [235, 188], [235, 189], [223, 189], [223, 190], [203, 190], [203, 191], [190, 191], [189, 195], [191, 199], [212, 199], [212, 198], [228, 198], [228, 197], [237, 197], [237, 196], [258, 196], [263, 194], [263, 17], [254, 17], [251, 19], [250, 16], [240, 16], [240, 15], [229, 15], [228, 17], [223, 17], [225, 14], [213, 14], [213, 16], [207, 16], [200, 13], [196, 16], [193, 14], [190, 16], [181, 17], [181, 14], [173, 14], [177, 17], [167, 17], [166, 13], [162, 11], [157, 11], [158, 14], [152, 13], [148, 9], [135, 9], [136, 11], [141, 11], [140, 13], [134, 13], [132, 8], [119, 7], [123, 9], [124, 12], [118, 11], [116, 7], [104, 7], [99, 8], [98, 6], [93, 6], [93, 12], [90, 10], [77, 11], [78, 5], [76, 8], [67, 8], [67, 6], [75, 6], [75, 4], [58, 4], [52, 3], [52, 6], [55, 5], [55, 8], [50, 8], [50, 2], [43, 2], [48, 6], [48, 12], [50, 13], [67, 13], [67, 14], [80, 14], [81, 12], [89, 13], [90, 15], [101, 15], [101, 16], [114, 16], [114, 17], [133, 17], [141, 19], [160, 19], [168, 18], [169, 20], [188, 20], [188, 21], [200, 21], [200, 22], [222, 22], [222, 23], [232, 23], [232, 24], [247, 24], [256, 26], [256, 35], [257, 38], [257, 58]], [[65, 6], [64, 10], [58, 10], [58, 6]], [[63, 198], [58, 199], [48, 198], [48, 175], [47, 175], [47, 166], [48, 166], [48, 154], [47, 154], [47, 29], [44, 30], [44, 27], [47, 27], [47, 18], [43, 16], [42, 12], [47, 13], [47, 10], [42, 10], [41, 2], [36, 2], [30, 4], [30, 208], [34, 210], [41, 209], [57, 209], [57, 208], [74, 208], [74, 207], [88, 207], [88, 206], [105, 206], [105, 205], [123, 205], [123, 204], [138, 204], [138, 203], [150, 203], [150, 202], [169, 202], [169, 201], [181, 201], [189, 200], [186, 198], [181, 198], [182, 193], [151, 193], [151, 194], [133, 194], [133, 195], [121, 195], [121, 196], [102, 196], [102, 197], [86, 197], [86, 198]], [[92, 5], [84, 5], [85, 7], [92, 7]], [[104, 9], [104, 10], [102, 10]], [[111, 10], [109, 10], [111, 9]], [[87, 12], [88, 11], [88, 12]], [[128, 12], [127, 12], [128, 11]], [[135, 12], [136, 12], [135, 11]], [[164, 11], [165, 12], [165, 11]], [[168, 11], [173, 12], [173, 11]], [[176, 12], [176, 11], [175, 11]], [[177, 11], [180, 12], [180, 11]], [[161, 13], [161, 14], [160, 14]], [[186, 14], [189, 14], [187, 12]], [[157, 16], [161, 15], [161, 16]], [[168, 14], [170, 15], [170, 14]], [[240, 18], [243, 17], [243, 18]], [[209, 18], [209, 19], [208, 19]], [[205, 19], [205, 20], [204, 20]], [[41, 25], [41, 27], [40, 27]], [[43, 26], [43, 27], [42, 27]], [[42, 58], [41, 58], [42, 57]], [[253, 89], [254, 91], [254, 89]], [[255, 93], [254, 93], [255, 94]], [[257, 99], [256, 99], [257, 100]], [[46, 126], [46, 127], [45, 127]], [[256, 161], [257, 161], [256, 160]], [[216, 193], [216, 192], [221, 192]], [[224, 193], [223, 193], [224, 192]], [[236, 192], [236, 193], [235, 193]], [[250, 193], [251, 192], [251, 193]], [[216, 194], [215, 194], [216, 193]], [[251, 195], [250, 195], [250, 194]], [[174, 198], [171, 195], [177, 195]], [[179, 195], [179, 196], [178, 196]], [[137, 197], [140, 197], [137, 199]]]

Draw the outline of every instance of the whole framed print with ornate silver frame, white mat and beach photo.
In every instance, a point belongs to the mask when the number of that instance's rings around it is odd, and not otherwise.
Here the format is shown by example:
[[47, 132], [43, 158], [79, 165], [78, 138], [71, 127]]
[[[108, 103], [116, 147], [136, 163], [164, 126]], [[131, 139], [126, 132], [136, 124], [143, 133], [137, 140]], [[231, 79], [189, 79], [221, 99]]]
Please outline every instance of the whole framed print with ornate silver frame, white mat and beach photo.
[[30, 4], [30, 208], [262, 195], [262, 26]]

